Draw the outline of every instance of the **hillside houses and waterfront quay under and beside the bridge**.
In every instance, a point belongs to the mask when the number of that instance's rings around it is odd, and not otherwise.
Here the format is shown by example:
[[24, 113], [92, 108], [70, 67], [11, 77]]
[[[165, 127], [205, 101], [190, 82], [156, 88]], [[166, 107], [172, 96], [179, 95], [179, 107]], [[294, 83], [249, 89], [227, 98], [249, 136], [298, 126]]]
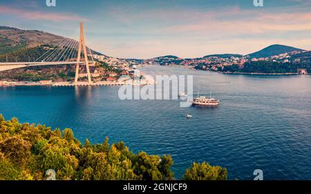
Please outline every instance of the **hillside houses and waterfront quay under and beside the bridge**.
[[[114, 57], [107, 57], [105, 55], [92, 55], [95, 60], [95, 65], [90, 65], [91, 77], [94, 81], [92, 85], [94, 86], [120, 86], [120, 85], [145, 85], [145, 84], [154, 84], [151, 77], [145, 76], [143, 72], [136, 70], [139, 64], [128, 62], [125, 59], [117, 59]], [[65, 68], [65, 70], [70, 71]], [[10, 72], [15, 70], [8, 71]], [[25, 71], [25, 70], [21, 70]], [[26, 70], [26, 73], [33, 73], [33, 70], [30, 68]], [[6, 72], [5, 72], [6, 73]], [[0, 86], [74, 86], [73, 77], [66, 76], [64, 78], [58, 79], [40, 79], [34, 81], [25, 81], [15, 78], [10, 78], [3, 74], [1, 79], [0, 75]], [[46, 72], [48, 75], [50, 72]], [[61, 72], [59, 74], [64, 74]], [[138, 77], [139, 76], [139, 77]], [[48, 77], [48, 76], [46, 76]], [[82, 81], [79, 82], [79, 86], [88, 86], [86, 79], [86, 73], [80, 73], [79, 79]], [[66, 79], [66, 80], [65, 80]]]

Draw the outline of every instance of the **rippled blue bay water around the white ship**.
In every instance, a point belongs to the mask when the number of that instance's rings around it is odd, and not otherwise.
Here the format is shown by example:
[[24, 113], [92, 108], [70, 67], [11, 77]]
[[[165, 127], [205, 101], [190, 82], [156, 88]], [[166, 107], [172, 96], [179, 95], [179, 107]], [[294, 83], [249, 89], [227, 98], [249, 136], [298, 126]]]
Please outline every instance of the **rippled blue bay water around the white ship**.
[[[180, 178], [191, 162], [227, 168], [229, 179], [311, 180], [311, 76], [221, 75], [177, 67], [151, 75], [194, 75], [218, 108], [180, 108], [178, 100], [120, 100], [118, 86], [0, 88], [6, 119], [73, 128], [84, 142], [124, 141], [131, 150], [169, 154]], [[194, 89], [196, 92], [196, 88]], [[193, 115], [185, 119], [184, 115]]]

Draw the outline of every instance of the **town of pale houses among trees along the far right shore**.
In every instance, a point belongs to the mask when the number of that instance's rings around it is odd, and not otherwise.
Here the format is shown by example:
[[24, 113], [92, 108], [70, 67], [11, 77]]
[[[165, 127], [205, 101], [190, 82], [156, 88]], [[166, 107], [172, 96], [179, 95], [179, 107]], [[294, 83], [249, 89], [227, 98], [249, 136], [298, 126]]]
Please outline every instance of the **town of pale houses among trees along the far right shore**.
[[[279, 55], [269, 57], [252, 57], [249, 55], [207, 55], [196, 59], [182, 59], [176, 56], [168, 55], [164, 57], [156, 57], [142, 61], [135, 61], [139, 64], [160, 65], [160, 66], [189, 66], [198, 70], [211, 70], [216, 72], [229, 73], [230, 67], [235, 66], [237, 69], [243, 69], [245, 64], [260, 64], [263, 62], [271, 64], [296, 64], [300, 68], [296, 68], [294, 72], [280, 72], [283, 74], [301, 74], [310, 73], [311, 52], [307, 50], [294, 50], [292, 52], [284, 52]], [[132, 61], [134, 62], [134, 61]], [[309, 65], [309, 66], [308, 66]], [[305, 68], [304, 68], [305, 66]], [[249, 72], [256, 73], [256, 72]], [[268, 73], [265, 73], [268, 74]]]

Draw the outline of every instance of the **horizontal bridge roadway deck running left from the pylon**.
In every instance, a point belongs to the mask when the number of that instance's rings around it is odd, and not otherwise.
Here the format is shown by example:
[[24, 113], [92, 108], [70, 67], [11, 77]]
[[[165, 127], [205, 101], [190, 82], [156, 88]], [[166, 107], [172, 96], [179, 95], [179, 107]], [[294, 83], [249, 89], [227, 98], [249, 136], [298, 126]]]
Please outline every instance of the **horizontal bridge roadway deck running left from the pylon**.
[[[31, 66], [55, 66], [55, 65], [76, 65], [76, 64], [85, 64], [85, 61], [58, 61], [58, 62], [4, 62], [0, 63], [0, 71], [11, 70], [16, 68], [26, 68]], [[93, 66], [95, 62], [88, 62], [90, 66]]]

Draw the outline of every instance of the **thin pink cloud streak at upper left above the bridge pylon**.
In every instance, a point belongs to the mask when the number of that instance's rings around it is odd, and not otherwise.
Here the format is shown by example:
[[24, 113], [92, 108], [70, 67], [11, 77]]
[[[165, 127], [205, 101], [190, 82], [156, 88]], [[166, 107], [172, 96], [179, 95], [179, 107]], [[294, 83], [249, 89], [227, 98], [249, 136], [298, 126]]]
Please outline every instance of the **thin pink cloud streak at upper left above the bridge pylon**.
[[34, 10], [23, 10], [17, 8], [10, 8], [8, 6], [0, 6], [0, 14], [8, 14], [28, 20], [45, 20], [45, 21], [87, 21], [82, 17], [73, 14], [62, 14], [56, 12], [41, 12]]

